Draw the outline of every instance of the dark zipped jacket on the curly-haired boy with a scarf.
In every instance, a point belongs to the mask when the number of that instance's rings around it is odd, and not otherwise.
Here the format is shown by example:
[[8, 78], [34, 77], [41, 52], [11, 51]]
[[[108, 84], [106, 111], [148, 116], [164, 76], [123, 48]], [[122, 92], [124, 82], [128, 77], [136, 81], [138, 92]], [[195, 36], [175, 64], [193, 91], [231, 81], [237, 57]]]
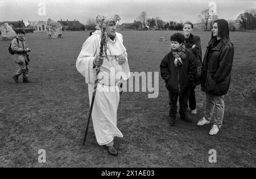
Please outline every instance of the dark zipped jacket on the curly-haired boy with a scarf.
[[191, 88], [196, 77], [196, 60], [193, 53], [185, 50], [186, 58], [182, 59], [183, 65], [175, 67], [175, 58], [168, 53], [160, 64], [161, 76], [166, 82], [168, 91], [182, 93]]

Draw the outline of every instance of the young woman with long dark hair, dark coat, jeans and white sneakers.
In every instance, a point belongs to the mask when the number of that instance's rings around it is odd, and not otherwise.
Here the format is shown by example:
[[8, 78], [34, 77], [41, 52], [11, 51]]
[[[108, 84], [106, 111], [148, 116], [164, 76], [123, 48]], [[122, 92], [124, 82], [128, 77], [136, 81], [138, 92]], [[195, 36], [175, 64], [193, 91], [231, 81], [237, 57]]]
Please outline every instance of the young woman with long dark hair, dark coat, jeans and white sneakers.
[[[224, 96], [228, 93], [234, 58], [234, 45], [229, 38], [229, 24], [225, 19], [213, 22], [212, 38], [204, 55], [201, 90], [206, 94], [204, 117], [197, 123], [204, 126], [214, 117], [209, 135], [216, 135], [224, 118]], [[213, 111], [216, 110], [213, 116]]]

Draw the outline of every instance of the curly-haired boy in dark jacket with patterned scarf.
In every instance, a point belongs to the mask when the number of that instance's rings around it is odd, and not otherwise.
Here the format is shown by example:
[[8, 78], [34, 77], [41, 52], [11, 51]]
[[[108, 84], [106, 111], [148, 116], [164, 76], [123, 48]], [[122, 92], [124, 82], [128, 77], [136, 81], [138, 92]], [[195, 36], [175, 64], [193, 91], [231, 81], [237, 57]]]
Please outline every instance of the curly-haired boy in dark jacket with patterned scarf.
[[166, 82], [170, 99], [170, 125], [174, 126], [177, 113], [177, 99], [180, 104], [181, 120], [192, 122], [187, 117], [189, 89], [196, 77], [196, 60], [192, 52], [185, 49], [185, 37], [181, 33], [171, 36], [171, 52], [160, 64], [161, 76]]

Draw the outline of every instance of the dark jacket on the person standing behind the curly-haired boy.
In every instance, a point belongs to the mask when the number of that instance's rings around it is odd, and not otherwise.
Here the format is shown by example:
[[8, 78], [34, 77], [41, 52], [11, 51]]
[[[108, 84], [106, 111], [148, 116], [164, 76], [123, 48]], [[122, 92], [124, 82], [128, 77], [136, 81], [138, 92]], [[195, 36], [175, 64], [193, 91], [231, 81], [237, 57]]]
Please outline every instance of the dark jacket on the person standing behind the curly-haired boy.
[[[196, 45], [196, 47], [192, 49], [193, 45]], [[203, 63], [200, 37], [191, 34], [188, 37], [188, 39], [186, 39], [185, 46], [186, 46], [186, 49], [191, 50], [191, 52], [196, 57], [197, 73], [196, 73], [195, 81], [193, 82], [193, 86], [197, 86], [201, 83], [201, 70], [202, 70], [202, 63]]]

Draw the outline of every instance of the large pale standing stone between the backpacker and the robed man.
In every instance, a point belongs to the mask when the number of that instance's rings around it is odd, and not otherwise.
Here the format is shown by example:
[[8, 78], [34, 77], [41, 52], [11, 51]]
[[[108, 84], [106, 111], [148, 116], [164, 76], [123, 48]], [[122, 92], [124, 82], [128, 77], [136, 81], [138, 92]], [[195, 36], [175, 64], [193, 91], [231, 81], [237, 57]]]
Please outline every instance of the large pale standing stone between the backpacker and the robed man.
[[47, 21], [47, 34], [49, 38], [60, 38], [62, 36], [62, 25], [58, 22], [55, 22], [52, 19], [48, 19]]

